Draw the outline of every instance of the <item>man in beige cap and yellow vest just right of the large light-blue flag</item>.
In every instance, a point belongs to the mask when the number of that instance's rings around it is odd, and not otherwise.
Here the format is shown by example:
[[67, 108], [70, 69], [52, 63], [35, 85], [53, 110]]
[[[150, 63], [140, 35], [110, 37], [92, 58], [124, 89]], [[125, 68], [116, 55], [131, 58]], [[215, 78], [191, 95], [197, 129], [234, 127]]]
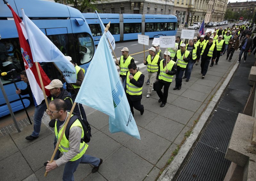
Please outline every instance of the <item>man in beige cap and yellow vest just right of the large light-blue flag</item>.
[[120, 77], [122, 78], [122, 83], [125, 90], [126, 72], [128, 71], [128, 65], [130, 63], [134, 63], [134, 59], [128, 54], [129, 49], [127, 47], [124, 47], [120, 51], [122, 51], [122, 56], [120, 57], [120, 61], [116, 62], [116, 65], [120, 65]]

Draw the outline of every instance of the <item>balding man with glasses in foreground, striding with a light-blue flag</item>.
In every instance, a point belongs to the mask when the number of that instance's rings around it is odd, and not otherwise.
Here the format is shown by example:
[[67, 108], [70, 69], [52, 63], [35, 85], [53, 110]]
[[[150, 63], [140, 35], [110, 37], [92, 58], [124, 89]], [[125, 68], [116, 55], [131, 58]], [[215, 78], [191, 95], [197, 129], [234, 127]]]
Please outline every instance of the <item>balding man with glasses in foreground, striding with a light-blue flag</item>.
[[[51, 115], [53, 119], [56, 119], [55, 136], [59, 139], [61, 133], [64, 131], [63, 127], [69, 115], [66, 103], [61, 99], [54, 99], [49, 104], [48, 115]], [[59, 146], [59, 150], [63, 153], [63, 156], [54, 160], [52, 163], [49, 163], [48, 161], [46, 172], [54, 170], [66, 163], [62, 180], [74, 181], [74, 172], [79, 163], [92, 164], [94, 166], [92, 173], [95, 173], [99, 170], [102, 159], [85, 154], [88, 145], [84, 141], [81, 141], [84, 137], [84, 130], [78, 119], [76, 119], [69, 128], [67, 127], [67, 129], [69, 129], [69, 137], [67, 138], [64, 134]]]

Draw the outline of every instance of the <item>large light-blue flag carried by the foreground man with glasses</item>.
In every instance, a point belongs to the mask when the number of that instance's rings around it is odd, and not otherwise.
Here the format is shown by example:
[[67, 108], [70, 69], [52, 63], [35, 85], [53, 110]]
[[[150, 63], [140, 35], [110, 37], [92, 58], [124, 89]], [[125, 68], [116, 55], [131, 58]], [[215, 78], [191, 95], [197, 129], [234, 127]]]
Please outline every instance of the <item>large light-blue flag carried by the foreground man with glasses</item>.
[[140, 139], [105, 33], [100, 38], [75, 102], [109, 115], [110, 133], [122, 131]]

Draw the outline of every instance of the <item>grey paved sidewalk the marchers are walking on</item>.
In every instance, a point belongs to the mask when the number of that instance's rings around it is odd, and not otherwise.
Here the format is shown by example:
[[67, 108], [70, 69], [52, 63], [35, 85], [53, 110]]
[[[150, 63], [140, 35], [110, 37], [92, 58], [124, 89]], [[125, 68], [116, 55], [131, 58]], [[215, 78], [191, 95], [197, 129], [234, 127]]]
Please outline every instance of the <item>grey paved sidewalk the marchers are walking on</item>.
[[[92, 173], [92, 166], [88, 164], [79, 165], [75, 180], [155, 180], [172, 151], [183, 140], [184, 134], [193, 126], [193, 121], [198, 119], [236, 64], [238, 54], [239, 51], [236, 51], [232, 62], [228, 62], [226, 56], [220, 57], [218, 65], [209, 67], [204, 79], [199, 75], [200, 64], [194, 65], [191, 79], [189, 82], [183, 79], [180, 90], [174, 91], [175, 82], [171, 84], [167, 104], [163, 108], [158, 103], [155, 91], [150, 98], [146, 98], [149, 85], [144, 84], [142, 104], [145, 112], [141, 116], [139, 111], [134, 111], [141, 140], [124, 133], [110, 134], [108, 116], [86, 107], [87, 119], [92, 126], [92, 139], [86, 153], [102, 158], [103, 163], [97, 173]], [[146, 82], [146, 68], [140, 71], [145, 74]], [[63, 166], [44, 177], [43, 164], [52, 156], [54, 138], [47, 122], [49, 118], [46, 117], [40, 136], [35, 141], [25, 140], [32, 133], [33, 125], [22, 127], [21, 133], [14, 131], [0, 137], [0, 180], [61, 180]]]

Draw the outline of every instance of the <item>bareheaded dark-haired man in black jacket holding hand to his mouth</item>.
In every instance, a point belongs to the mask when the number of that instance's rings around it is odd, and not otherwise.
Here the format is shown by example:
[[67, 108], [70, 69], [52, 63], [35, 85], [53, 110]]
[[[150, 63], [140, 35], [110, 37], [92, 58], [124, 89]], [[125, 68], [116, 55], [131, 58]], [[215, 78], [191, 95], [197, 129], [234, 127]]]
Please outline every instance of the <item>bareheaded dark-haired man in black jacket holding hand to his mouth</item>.
[[129, 71], [126, 73], [126, 97], [130, 105], [132, 115], [134, 115], [133, 107], [140, 111], [140, 115], [144, 113], [144, 106], [141, 105], [142, 86], [145, 76], [138, 71], [135, 63], [128, 65]]

